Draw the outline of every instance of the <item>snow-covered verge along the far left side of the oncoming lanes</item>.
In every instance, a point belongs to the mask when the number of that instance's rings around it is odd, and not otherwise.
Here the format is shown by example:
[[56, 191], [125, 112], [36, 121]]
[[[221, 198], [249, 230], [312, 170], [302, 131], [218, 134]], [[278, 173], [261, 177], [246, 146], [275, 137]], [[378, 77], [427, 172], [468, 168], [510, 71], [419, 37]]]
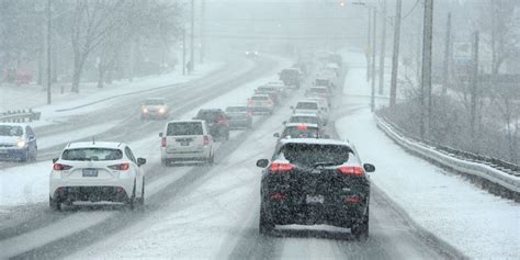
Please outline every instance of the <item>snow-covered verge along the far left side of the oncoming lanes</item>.
[[[71, 93], [68, 89], [60, 93], [59, 86], [53, 92], [53, 104], [46, 104], [46, 92], [37, 86], [7, 87], [0, 86], [0, 112], [8, 110], [34, 109], [42, 112], [41, 121], [33, 122], [34, 127], [52, 124], [56, 117], [70, 116], [110, 106], [117, 98], [138, 94], [144, 91], [183, 83], [199, 79], [222, 68], [224, 63], [206, 63], [197, 66], [192, 75], [183, 76], [180, 71], [148, 76], [133, 81], [122, 80], [106, 84], [103, 89], [95, 83], [84, 83], [80, 93]], [[251, 66], [248, 64], [246, 68]], [[172, 86], [174, 87], [174, 86]], [[74, 111], [71, 111], [74, 109]]]

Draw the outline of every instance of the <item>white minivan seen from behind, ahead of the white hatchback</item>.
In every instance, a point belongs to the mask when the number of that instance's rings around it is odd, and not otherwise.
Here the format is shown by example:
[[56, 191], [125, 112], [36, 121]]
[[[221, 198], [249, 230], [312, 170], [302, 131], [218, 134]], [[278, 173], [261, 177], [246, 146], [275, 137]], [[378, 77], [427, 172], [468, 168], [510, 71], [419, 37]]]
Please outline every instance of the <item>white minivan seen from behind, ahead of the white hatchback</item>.
[[202, 120], [171, 121], [166, 124], [161, 138], [161, 163], [206, 161], [213, 163], [213, 138]]

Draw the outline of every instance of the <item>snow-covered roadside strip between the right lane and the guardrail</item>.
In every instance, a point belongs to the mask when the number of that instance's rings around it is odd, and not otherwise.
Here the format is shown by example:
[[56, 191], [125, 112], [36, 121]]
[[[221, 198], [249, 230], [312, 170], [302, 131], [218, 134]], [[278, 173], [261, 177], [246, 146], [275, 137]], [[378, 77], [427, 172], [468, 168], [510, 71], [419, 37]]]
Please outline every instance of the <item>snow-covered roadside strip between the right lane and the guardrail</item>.
[[[362, 63], [362, 54], [344, 60]], [[370, 94], [362, 66], [349, 70], [349, 95]], [[407, 154], [377, 129], [368, 109], [336, 122], [338, 134], [357, 145], [377, 171], [373, 183], [420, 226], [476, 259], [520, 258], [520, 206], [483, 191], [461, 177]]]

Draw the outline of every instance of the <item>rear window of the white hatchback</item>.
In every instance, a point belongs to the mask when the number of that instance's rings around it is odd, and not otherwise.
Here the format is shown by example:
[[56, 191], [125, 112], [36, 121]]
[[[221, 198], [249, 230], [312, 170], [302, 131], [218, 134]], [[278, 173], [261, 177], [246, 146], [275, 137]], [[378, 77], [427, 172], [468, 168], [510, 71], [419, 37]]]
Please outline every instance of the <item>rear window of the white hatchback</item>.
[[63, 160], [120, 160], [123, 151], [112, 148], [72, 148], [64, 150]]

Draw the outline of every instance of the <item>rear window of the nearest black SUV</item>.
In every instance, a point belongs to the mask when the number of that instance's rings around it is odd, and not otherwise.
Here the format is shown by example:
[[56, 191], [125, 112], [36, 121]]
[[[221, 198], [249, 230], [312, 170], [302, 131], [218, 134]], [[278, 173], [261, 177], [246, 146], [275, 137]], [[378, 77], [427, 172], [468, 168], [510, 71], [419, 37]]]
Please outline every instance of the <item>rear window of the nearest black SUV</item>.
[[285, 144], [280, 148], [279, 157], [293, 165], [313, 167], [316, 163], [342, 165], [349, 160], [352, 150], [339, 145]]

